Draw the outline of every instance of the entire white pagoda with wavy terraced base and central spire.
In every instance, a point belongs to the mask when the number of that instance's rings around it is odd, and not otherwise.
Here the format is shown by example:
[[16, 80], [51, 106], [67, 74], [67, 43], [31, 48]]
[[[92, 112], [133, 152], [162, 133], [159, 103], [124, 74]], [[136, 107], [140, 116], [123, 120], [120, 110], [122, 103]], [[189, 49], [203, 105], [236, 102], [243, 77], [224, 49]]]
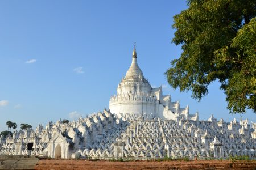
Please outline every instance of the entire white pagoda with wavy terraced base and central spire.
[[132, 63], [111, 97], [109, 109], [77, 121], [58, 120], [0, 137], [0, 155], [51, 158], [134, 158], [248, 156], [256, 158], [256, 123], [234, 119], [200, 121], [180, 108], [162, 87], [152, 88]]

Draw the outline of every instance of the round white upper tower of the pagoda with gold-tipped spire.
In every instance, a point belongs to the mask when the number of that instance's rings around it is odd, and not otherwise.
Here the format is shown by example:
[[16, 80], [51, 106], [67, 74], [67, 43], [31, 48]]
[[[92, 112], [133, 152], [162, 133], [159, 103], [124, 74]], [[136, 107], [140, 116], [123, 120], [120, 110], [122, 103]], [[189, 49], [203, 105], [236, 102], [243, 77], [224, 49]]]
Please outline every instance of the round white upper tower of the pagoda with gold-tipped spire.
[[118, 84], [117, 95], [111, 97], [109, 101], [111, 113], [124, 120], [138, 116], [159, 117], [163, 120], [175, 120], [177, 117], [198, 120], [198, 113], [189, 114], [188, 106], [180, 108], [179, 101], [172, 102], [170, 95], [163, 95], [161, 86], [151, 87], [138, 66], [135, 48], [132, 59], [125, 78]]

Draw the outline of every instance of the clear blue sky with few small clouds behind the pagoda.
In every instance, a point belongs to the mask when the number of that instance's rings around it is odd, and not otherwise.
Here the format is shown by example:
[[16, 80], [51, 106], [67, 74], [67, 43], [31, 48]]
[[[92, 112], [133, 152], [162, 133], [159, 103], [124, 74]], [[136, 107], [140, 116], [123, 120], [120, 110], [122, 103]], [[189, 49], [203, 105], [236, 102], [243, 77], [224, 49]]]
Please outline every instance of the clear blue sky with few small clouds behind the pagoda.
[[[185, 1], [0, 1], [0, 131], [8, 120], [35, 129], [108, 108], [134, 41], [152, 86], [162, 84], [200, 120], [240, 118], [229, 114], [218, 82], [200, 103], [167, 84], [163, 73], [181, 53], [171, 44], [172, 17], [186, 8]], [[250, 110], [242, 117], [256, 121]]]

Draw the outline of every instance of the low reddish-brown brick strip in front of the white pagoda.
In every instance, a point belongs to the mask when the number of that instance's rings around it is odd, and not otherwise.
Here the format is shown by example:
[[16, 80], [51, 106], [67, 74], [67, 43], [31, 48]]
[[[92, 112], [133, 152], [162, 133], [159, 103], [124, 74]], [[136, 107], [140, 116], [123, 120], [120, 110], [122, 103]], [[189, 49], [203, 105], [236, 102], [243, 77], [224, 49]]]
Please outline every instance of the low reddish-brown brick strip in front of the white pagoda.
[[256, 161], [196, 160], [196, 161], [92, 161], [42, 159], [35, 169], [256, 169]]

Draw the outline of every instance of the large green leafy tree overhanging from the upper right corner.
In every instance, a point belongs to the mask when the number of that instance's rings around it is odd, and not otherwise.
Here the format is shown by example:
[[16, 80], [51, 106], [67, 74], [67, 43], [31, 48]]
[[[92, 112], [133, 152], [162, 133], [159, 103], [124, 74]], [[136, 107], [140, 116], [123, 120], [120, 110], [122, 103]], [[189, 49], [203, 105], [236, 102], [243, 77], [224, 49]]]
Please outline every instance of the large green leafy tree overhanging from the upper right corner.
[[189, 0], [174, 16], [172, 39], [183, 52], [166, 71], [168, 83], [192, 90], [198, 99], [215, 80], [226, 94], [230, 113], [256, 113], [256, 10], [253, 0]]

